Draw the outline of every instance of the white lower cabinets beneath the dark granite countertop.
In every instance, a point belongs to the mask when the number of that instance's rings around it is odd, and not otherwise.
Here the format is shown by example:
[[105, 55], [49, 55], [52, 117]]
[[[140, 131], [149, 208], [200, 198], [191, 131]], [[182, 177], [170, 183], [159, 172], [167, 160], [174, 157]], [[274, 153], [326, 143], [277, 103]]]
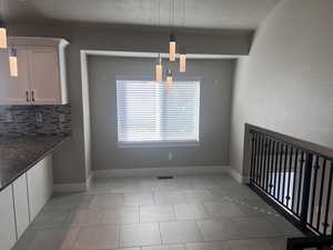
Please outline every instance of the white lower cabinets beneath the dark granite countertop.
[[10, 250], [53, 192], [52, 156], [0, 191], [0, 250]]

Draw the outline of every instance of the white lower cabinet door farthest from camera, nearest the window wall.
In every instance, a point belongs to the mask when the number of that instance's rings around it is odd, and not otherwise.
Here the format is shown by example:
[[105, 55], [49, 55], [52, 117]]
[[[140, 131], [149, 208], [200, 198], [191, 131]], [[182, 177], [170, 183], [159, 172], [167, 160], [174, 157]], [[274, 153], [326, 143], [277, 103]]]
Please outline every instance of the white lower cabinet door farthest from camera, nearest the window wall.
[[28, 172], [30, 220], [32, 221], [52, 194], [52, 158], [46, 157]]

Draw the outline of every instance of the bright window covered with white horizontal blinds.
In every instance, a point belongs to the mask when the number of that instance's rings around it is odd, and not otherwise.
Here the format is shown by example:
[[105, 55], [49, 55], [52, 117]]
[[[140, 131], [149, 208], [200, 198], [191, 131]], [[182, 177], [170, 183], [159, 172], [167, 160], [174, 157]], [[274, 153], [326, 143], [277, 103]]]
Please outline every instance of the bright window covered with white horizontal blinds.
[[194, 146], [199, 142], [200, 81], [118, 80], [118, 143]]

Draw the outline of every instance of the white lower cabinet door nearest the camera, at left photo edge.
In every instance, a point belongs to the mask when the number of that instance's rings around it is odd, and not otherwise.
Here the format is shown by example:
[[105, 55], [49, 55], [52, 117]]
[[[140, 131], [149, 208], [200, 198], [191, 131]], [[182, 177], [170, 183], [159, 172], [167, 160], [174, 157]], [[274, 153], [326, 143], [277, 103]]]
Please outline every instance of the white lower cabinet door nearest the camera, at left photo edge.
[[10, 250], [17, 241], [12, 187], [0, 191], [0, 249]]

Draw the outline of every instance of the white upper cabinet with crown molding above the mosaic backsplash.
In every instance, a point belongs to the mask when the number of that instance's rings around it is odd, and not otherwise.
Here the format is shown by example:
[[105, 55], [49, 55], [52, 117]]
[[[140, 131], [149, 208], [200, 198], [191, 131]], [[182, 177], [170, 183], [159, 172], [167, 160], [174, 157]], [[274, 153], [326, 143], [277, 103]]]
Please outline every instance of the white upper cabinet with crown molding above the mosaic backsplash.
[[11, 37], [9, 44], [18, 52], [17, 78], [9, 74], [8, 54], [1, 52], [1, 104], [65, 104], [63, 39]]

